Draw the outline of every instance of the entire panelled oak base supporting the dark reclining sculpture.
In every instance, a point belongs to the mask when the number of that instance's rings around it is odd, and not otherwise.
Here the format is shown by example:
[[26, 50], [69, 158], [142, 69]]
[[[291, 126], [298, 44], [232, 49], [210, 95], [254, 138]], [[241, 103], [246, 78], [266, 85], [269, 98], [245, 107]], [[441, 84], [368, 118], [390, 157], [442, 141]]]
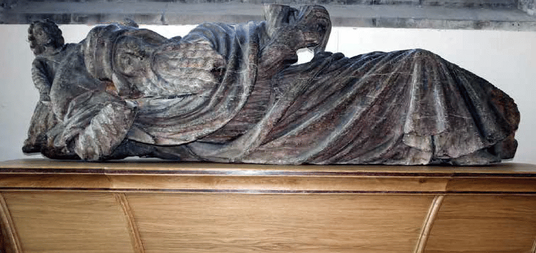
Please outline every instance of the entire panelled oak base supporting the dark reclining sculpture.
[[0, 162], [0, 252], [536, 251], [536, 166]]

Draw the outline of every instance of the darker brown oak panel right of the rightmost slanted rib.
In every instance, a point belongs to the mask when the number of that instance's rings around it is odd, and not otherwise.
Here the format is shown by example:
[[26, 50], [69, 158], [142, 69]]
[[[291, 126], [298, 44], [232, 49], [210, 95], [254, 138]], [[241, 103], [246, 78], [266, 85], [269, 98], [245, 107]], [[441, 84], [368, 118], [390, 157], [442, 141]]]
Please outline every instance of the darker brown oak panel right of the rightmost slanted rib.
[[447, 195], [426, 253], [531, 253], [536, 196]]

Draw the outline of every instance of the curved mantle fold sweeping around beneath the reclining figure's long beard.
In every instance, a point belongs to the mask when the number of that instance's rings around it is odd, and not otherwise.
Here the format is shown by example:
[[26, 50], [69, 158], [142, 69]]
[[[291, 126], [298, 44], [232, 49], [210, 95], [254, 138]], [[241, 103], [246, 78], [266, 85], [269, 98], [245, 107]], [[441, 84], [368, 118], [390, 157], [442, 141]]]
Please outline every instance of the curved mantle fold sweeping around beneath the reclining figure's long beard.
[[242, 108], [257, 75], [259, 24], [228, 26], [205, 24], [182, 38], [181, 43], [210, 43], [225, 56], [220, 83], [200, 93], [180, 98], [142, 98], [131, 140], [155, 145], [189, 143], [222, 128]]

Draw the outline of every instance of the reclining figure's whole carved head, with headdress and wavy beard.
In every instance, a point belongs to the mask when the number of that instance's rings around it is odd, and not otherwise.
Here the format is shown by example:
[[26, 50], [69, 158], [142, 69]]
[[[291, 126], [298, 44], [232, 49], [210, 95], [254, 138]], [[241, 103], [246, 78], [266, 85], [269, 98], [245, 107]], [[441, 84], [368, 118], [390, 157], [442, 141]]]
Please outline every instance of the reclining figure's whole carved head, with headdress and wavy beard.
[[90, 31], [83, 45], [92, 76], [111, 81], [118, 95], [174, 96], [204, 91], [224, 65], [210, 45], [168, 40], [154, 31], [113, 24]]

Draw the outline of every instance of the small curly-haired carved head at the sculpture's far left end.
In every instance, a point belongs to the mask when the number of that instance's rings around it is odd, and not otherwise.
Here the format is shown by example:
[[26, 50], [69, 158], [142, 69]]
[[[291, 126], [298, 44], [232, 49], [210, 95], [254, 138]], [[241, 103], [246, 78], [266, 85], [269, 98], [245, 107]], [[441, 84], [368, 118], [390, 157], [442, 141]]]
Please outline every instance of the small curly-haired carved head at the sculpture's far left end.
[[28, 41], [34, 55], [53, 53], [63, 46], [63, 36], [58, 26], [48, 19], [34, 21], [28, 29]]

